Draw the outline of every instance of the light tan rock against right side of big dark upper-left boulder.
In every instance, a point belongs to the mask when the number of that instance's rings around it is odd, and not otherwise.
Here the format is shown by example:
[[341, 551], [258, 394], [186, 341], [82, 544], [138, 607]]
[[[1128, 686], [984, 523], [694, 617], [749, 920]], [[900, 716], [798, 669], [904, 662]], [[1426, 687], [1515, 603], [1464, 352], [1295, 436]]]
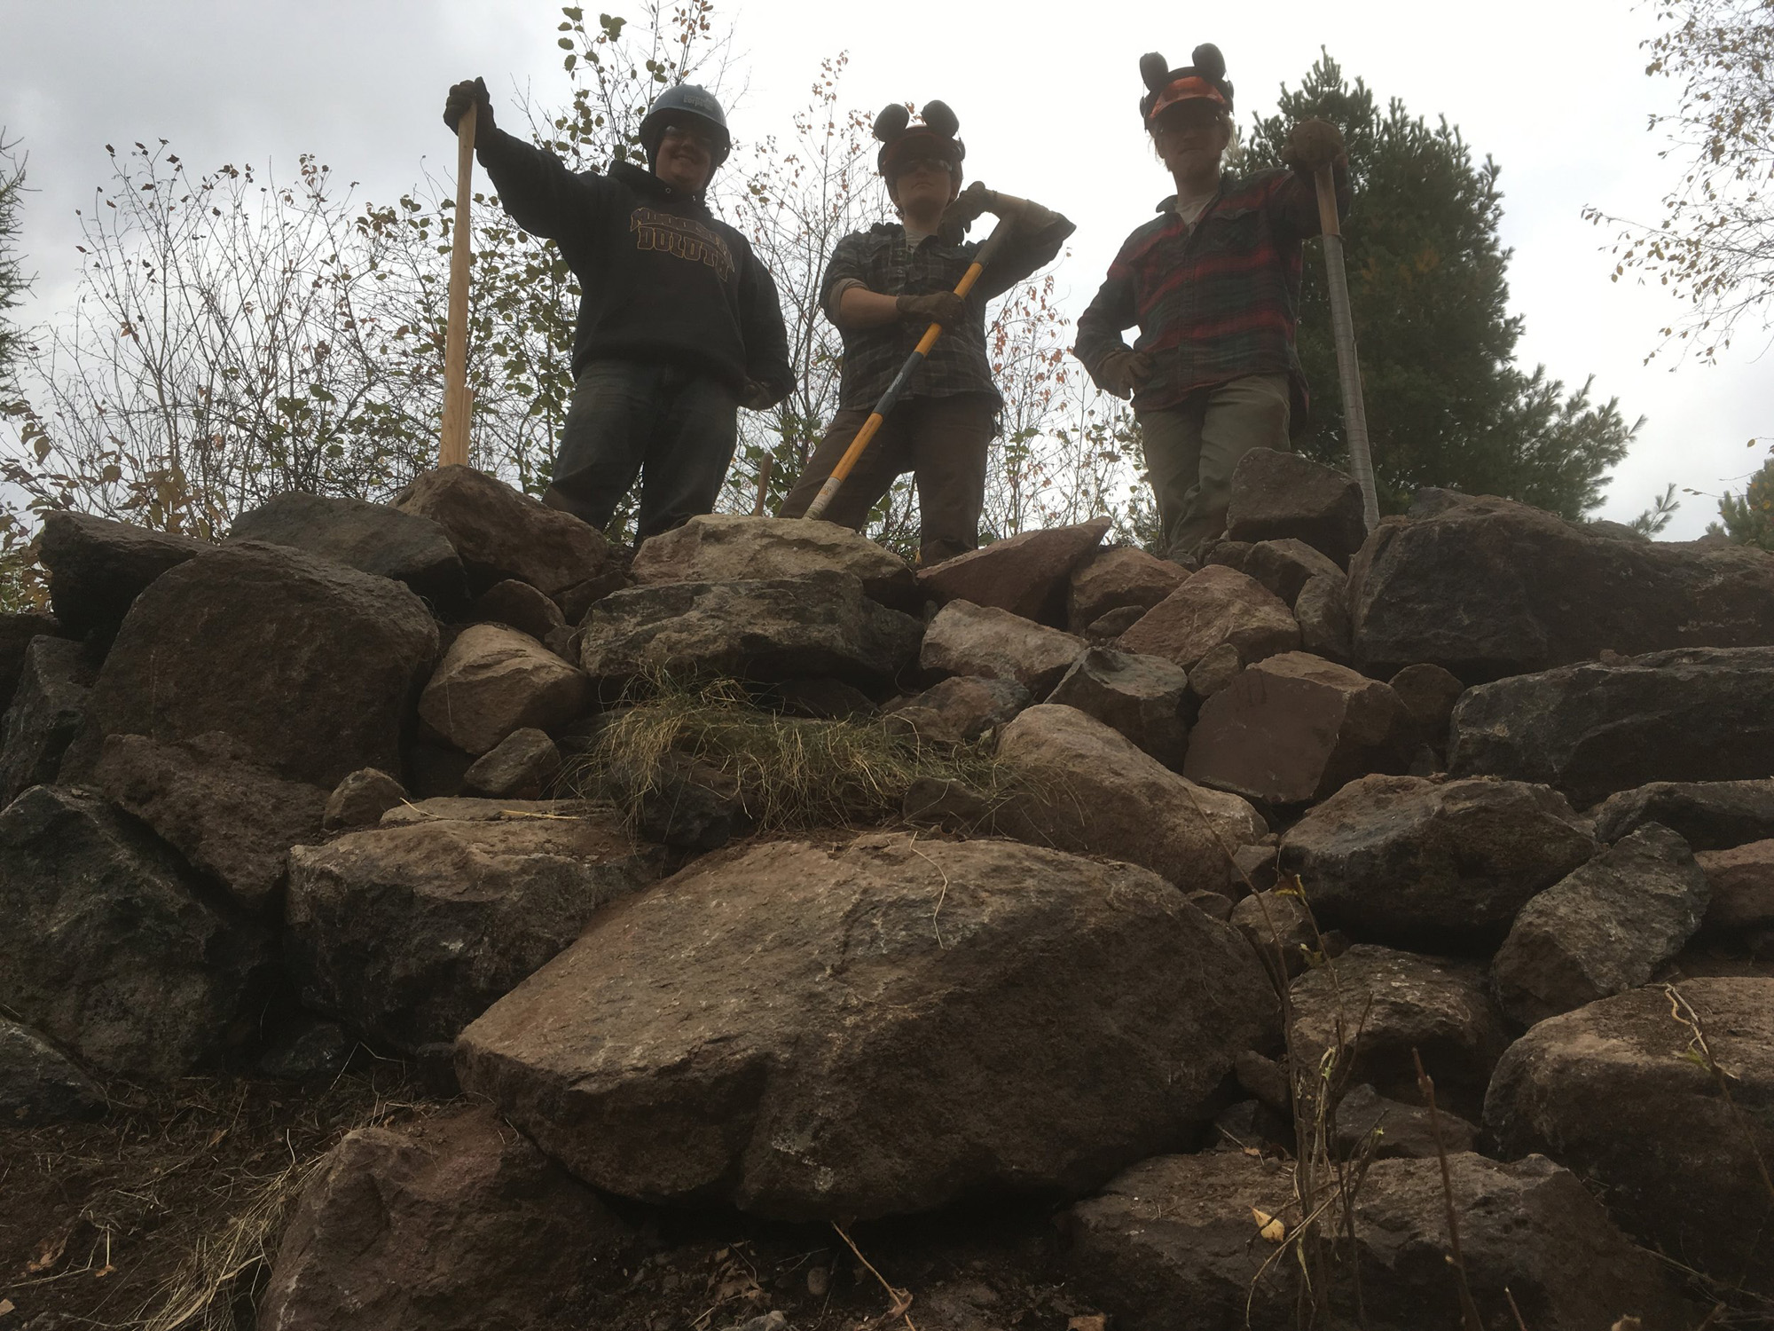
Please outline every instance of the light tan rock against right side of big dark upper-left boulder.
[[419, 717], [463, 752], [518, 729], [557, 729], [591, 703], [591, 681], [529, 634], [468, 625], [419, 697]]

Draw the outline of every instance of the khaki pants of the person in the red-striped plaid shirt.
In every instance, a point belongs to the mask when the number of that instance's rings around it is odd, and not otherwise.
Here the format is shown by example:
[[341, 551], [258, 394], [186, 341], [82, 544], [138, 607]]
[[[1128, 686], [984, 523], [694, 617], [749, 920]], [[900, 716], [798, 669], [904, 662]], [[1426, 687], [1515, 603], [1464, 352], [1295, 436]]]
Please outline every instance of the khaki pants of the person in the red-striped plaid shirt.
[[1288, 453], [1290, 410], [1286, 374], [1247, 374], [1197, 389], [1178, 406], [1139, 413], [1169, 559], [1192, 557], [1226, 531], [1238, 458], [1251, 449]]

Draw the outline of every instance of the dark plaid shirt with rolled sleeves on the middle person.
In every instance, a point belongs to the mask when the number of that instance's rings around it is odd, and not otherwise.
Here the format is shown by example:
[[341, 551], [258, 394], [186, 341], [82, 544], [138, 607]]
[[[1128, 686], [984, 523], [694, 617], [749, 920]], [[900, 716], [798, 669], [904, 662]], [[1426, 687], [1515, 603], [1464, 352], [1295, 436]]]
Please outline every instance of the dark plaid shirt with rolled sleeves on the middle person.
[[[1073, 225], [1057, 213], [1038, 231], [1017, 229], [986, 264], [974, 289], [967, 293], [967, 321], [944, 328], [924, 364], [912, 374], [907, 398], [949, 398], [958, 392], [988, 392], [1002, 405], [992, 383], [986, 358], [986, 302], [1022, 282], [1029, 273], [1052, 263]], [[924, 296], [953, 291], [967, 273], [979, 243], [946, 245], [926, 236], [914, 248], [898, 222], [876, 222], [867, 231], [853, 231], [837, 241], [820, 282], [820, 305], [832, 309], [832, 291], [846, 279], [883, 296]], [[869, 410], [887, 392], [894, 374], [917, 350], [926, 323], [889, 323], [876, 328], [839, 328], [844, 337], [844, 364], [837, 405], [843, 410]]]

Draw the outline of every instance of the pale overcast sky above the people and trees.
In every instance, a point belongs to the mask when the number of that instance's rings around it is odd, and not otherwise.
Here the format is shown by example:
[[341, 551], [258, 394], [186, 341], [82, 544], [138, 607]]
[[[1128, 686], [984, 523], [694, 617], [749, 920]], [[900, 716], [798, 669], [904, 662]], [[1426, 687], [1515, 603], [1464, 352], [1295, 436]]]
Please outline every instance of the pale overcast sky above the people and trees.
[[[1323, 46], [1382, 99], [1446, 115], [1501, 163], [1524, 366], [1543, 362], [1568, 385], [1595, 374], [1602, 399], [1648, 417], [1602, 516], [1630, 518], [1669, 481], [1740, 490], [1765, 456], [1744, 444], [1774, 433], [1767, 334], [1746, 330], [1715, 367], [1643, 364], [1680, 309], [1659, 287], [1609, 282], [1607, 236], [1581, 220], [1584, 204], [1655, 220], [1673, 177], [1646, 133], [1646, 117], [1671, 98], [1643, 73], [1648, 4], [740, 0], [720, 14], [743, 87], [729, 105], [736, 137], [786, 131], [820, 59], [837, 51], [850, 53], [850, 105], [947, 99], [974, 177], [1079, 224], [1057, 270], [1071, 314], [1169, 192], [1139, 130], [1141, 51], [1185, 64], [1196, 43], [1215, 41], [1247, 124]], [[358, 183], [358, 197], [390, 201], [428, 165], [438, 176], [454, 169], [438, 112], [456, 78], [484, 75], [507, 122], [518, 121], [518, 89], [545, 103], [559, 94], [557, 21], [559, 5], [541, 0], [0, 0], [0, 124], [28, 149], [35, 190], [25, 217], [37, 273], [28, 316], [51, 318], [71, 296], [75, 209], [105, 181], [106, 142], [167, 138], [192, 167], [254, 161], [280, 176], [316, 153]], [[1668, 536], [1698, 536], [1714, 516], [1712, 499], [1684, 497]]]

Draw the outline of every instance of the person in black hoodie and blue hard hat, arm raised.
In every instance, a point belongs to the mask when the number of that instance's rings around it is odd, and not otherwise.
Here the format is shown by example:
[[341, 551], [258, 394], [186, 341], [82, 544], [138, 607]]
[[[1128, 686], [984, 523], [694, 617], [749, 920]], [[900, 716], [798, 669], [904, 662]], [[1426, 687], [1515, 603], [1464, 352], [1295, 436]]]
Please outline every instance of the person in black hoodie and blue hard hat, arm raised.
[[640, 477], [635, 541], [708, 513], [733, 461], [738, 410], [795, 387], [770, 272], [703, 201], [731, 149], [704, 89], [679, 83], [640, 121], [648, 169], [571, 172], [493, 124], [486, 83], [456, 83], [454, 131], [475, 106], [475, 156], [525, 231], [561, 247], [578, 277], [573, 403], [543, 502], [594, 527]]

